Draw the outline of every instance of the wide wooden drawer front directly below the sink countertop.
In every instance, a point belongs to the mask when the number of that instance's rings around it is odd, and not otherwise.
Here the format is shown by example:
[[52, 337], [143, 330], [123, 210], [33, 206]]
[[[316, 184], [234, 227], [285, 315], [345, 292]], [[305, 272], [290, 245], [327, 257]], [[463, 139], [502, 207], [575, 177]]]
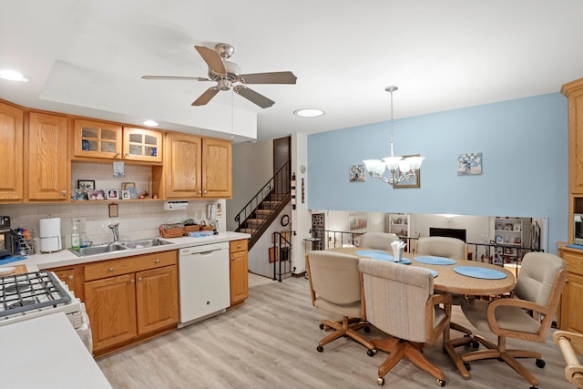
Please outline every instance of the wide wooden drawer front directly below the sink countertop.
[[178, 262], [176, 251], [161, 251], [118, 260], [100, 261], [85, 265], [85, 281], [113, 277], [135, 271], [146, 271]]

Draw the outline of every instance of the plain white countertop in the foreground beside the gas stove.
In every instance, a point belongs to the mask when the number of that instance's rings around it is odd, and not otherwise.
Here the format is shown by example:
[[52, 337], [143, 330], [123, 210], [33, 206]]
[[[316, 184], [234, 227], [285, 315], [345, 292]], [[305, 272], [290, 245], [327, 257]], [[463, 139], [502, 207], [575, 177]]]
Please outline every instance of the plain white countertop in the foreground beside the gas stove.
[[0, 339], [2, 387], [111, 388], [63, 312], [0, 326]]

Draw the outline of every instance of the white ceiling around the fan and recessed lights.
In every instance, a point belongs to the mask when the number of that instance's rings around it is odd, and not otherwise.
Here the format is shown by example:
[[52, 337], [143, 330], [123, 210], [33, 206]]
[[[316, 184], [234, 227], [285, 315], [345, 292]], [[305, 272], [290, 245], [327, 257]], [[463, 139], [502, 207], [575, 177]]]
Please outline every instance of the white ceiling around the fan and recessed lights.
[[[583, 77], [580, 0], [0, 0], [0, 98], [25, 107], [161, 128], [238, 135], [315, 133], [559, 91]], [[195, 45], [235, 47], [241, 73], [290, 70], [296, 85], [253, 85], [261, 109], [213, 84]], [[231, 102], [234, 127], [231, 127]], [[297, 118], [302, 107], [321, 118]], [[239, 123], [239, 124], [238, 124]], [[242, 123], [242, 124], [240, 124]], [[240, 128], [239, 128], [240, 127]], [[201, 129], [202, 128], [202, 129]], [[252, 128], [251, 132], [249, 129]]]

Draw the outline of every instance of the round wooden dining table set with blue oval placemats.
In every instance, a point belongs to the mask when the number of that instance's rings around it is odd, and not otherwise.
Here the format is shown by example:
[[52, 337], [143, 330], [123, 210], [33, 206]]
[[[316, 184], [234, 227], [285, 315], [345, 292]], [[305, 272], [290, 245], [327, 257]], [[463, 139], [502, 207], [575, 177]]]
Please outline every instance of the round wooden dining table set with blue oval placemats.
[[[359, 258], [377, 258], [377, 259], [389, 259], [392, 260], [392, 251], [382, 251], [373, 250], [364, 247], [342, 247], [329, 249], [329, 251], [343, 252], [346, 254], [352, 254]], [[375, 255], [378, 254], [378, 255]], [[415, 260], [415, 257], [419, 258]], [[511, 292], [514, 289], [516, 279], [512, 271], [508, 271], [502, 266], [496, 266], [490, 263], [480, 262], [480, 261], [466, 261], [466, 260], [451, 260], [447, 259], [449, 264], [431, 264], [424, 261], [427, 257], [425, 255], [414, 254], [411, 252], [404, 252], [403, 258], [408, 264], [404, 266], [418, 266], [431, 271], [435, 271], [437, 275], [434, 278], [434, 290], [439, 292], [449, 292], [452, 294], [465, 294], [472, 296], [491, 296], [499, 295], [507, 292]], [[439, 257], [430, 257], [429, 260], [435, 260], [438, 262]], [[468, 276], [462, 274], [462, 272], [471, 271], [471, 268], [476, 269], [476, 273], [479, 274], [480, 271], [486, 271], [489, 274], [495, 274], [496, 278], [477, 278], [476, 276]], [[469, 268], [469, 269], [468, 269]], [[462, 271], [464, 270], [464, 271]], [[450, 342], [449, 331], [444, 333], [444, 350], [449, 354], [455, 367], [460, 372], [460, 374], [465, 378], [470, 378], [465, 365], [461, 357], [455, 352], [454, 345]]]

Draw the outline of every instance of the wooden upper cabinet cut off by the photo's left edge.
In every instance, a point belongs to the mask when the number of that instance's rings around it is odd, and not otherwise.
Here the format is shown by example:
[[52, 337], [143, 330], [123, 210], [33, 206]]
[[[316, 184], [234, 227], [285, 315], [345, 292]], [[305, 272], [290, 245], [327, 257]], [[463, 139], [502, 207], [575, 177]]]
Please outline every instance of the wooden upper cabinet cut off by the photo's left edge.
[[0, 155], [4, 169], [0, 175], [0, 200], [23, 199], [24, 111], [0, 102]]

